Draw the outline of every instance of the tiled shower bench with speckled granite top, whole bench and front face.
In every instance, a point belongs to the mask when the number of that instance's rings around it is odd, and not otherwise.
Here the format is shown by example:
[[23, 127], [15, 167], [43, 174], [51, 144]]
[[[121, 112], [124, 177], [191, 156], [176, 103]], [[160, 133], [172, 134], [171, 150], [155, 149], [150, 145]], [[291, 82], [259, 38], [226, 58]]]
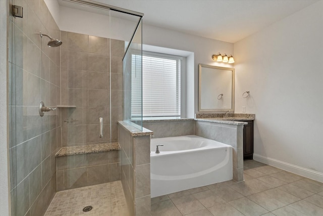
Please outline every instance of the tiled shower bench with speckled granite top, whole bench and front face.
[[56, 153], [57, 191], [120, 180], [119, 143], [63, 147]]

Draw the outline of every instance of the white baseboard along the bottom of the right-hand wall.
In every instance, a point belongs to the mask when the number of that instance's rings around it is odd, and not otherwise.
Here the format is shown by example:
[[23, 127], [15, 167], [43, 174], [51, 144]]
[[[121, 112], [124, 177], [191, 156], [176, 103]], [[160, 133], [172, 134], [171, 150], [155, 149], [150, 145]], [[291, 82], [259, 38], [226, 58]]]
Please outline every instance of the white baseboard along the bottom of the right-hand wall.
[[275, 166], [277, 168], [280, 168], [289, 172], [293, 172], [294, 174], [323, 183], [323, 173], [321, 172], [317, 172], [311, 169], [306, 169], [300, 166], [296, 166], [273, 158], [264, 157], [258, 154], [253, 154], [253, 159], [258, 162]]

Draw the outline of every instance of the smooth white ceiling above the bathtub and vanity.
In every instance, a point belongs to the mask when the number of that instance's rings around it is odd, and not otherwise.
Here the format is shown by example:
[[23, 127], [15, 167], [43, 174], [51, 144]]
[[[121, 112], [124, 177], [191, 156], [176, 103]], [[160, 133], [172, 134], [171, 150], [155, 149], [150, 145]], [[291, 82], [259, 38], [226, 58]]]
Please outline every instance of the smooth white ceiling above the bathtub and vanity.
[[144, 24], [234, 43], [318, 0], [95, 1], [144, 13]]

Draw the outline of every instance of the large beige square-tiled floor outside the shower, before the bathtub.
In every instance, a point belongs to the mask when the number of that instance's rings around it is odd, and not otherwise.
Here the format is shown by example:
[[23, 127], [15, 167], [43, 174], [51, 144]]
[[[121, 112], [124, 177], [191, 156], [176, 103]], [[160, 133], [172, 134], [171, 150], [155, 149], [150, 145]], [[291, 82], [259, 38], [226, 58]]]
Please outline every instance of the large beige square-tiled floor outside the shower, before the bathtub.
[[254, 160], [244, 178], [152, 198], [151, 215], [323, 215], [323, 183]]

